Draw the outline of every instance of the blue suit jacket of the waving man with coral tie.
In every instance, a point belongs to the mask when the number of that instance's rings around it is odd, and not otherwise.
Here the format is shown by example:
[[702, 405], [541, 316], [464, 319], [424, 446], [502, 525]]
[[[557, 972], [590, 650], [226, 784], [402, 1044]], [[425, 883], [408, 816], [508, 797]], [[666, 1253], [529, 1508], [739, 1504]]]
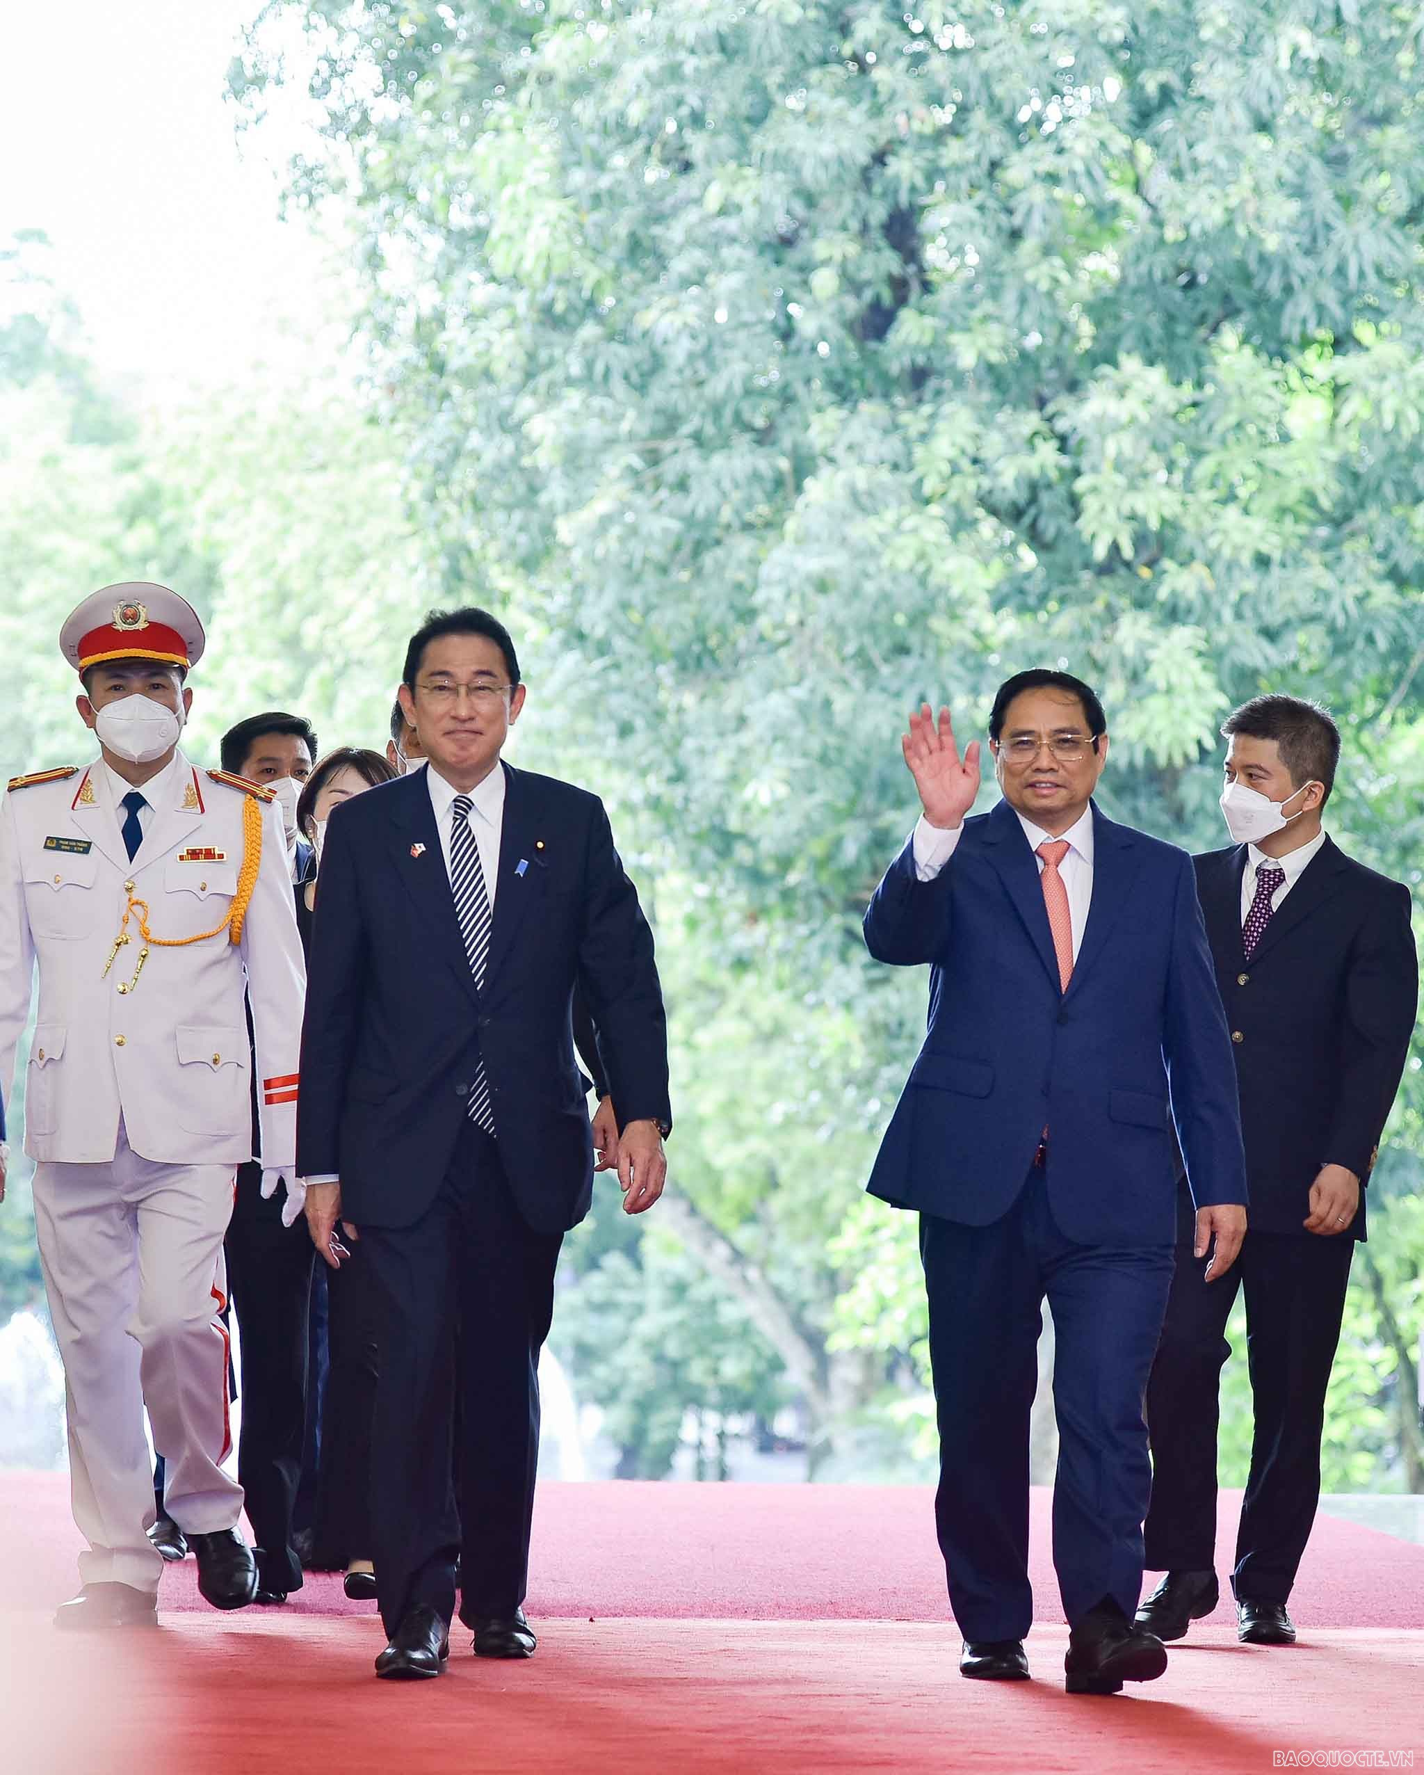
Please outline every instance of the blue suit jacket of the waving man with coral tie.
[[929, 1033], [871, 1191], [970, 1227], [998, 1219], [1048, 1127], [1053, 1216], [1084, 1244], [1170, 1244], [1176, 1118], [1197, 1203], [1245, 1202], [1222, 1001], [1192, 859], [1092, 815], [1092, 905], [1064, 994], [1043, 886], [1007, 802], [965, 820], [933, 882], [913, 843], [865, 912], [883, 962], [929, 962]]

